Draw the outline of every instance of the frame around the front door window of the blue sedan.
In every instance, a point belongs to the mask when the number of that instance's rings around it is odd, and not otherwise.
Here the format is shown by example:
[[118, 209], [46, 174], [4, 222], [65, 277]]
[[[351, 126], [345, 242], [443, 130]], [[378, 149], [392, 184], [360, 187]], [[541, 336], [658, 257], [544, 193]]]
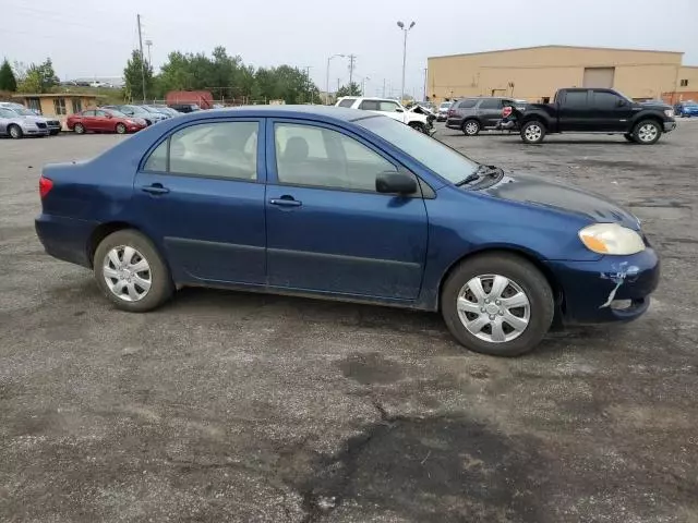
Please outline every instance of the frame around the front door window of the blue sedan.
[[[383, 117], [383, 118], [387, 118], [387, 117]], [[267, 185], [276, 185], [279, 187], [298, 187], [298, 188], [316, 188], [318, 191], [339, 191], [342, 193], [356, 193], [356, 194], [374, 194], [374, 195], [378, 195], [378, 196], [386, 196], [388, 198], [395, 198], [396, 195], [395, 194], [388, 194], [388, 193], [378, 193], [377, 191], [366, 191], [366, 190], [362, 190], [362, 188], [347, 188], [347, 187], [328, 187], [328, 186], [323, 186], [323, 185], [305, 185], [305, 184], [300, 184], [300, 183], [288, 183], [288, 182], [281, 182], [279, 180], [279, 175], [278, 175], [278, 170], [277, 170], [277, 158], [276, 158], [276, 135], [275, 135], [275, 126], [277, 123], [287, 123], [289, 125], [306, 125], [306, 126], [311, 126], [311, 127], [322, 127], [322, 129], [327, 129], [329, 131], [335, 131], [339, 134], [342, 134], [349, 138], [356, 139], [357, 142], [359, 142], [361, 145], [363, 145], [364, 147], [369, 148], [370, 150], [372, 150], [373, 153], [375, 153], [376, 155], [378, 155], [381, 158], [383, 158], [385, 161], [387, 161], [388, 163], [392, 163], [395, 167], [395, 170], [397, 172], [405, 172], [408, 173], [412, 177], [414, 177], [416, 181], [417, 181], [417, 187], [418, 187], [418, 192], [414, 194], [409, 194], [409, 195], [405, 195], [401, 196], [404, 198], [420, 198], [420, 199], [434, 199], [436, 192], [433, 190], [433, 187], [426, 183], [424, 180], [422, 180], [419, 175], [417, 175], [414, 172], [412, 172], [411, 170], [409, 170], [408, 168], [406, 168], [401, 162], [399, 162], [397, 159], [393, 158], [390, 155], [388, 155], [387, 153], [385, 153], [383, 149], [376, 147], [375, 145], [373, 145], [372, 143], [368, 142], [365, 138], [363, 138], [362, 136], [358, 135], [357, 133], [352, 132], [351, 130], [345, 129], [345, 127], [340, 127], [340, 126], [336, 126], [333, 124], [328, 124], [325, 122], [318, 122], [316, 120], [296, 120], [292, 118], [269, 118], [267, 121], [267, 126], [266, 126], [266, 157], [267, 157]], [[424, 196], [424, 188], [423, 186], [428, 187], [428, 192], [430, 193], [430, 197], [425, 197]], [[434, 196], [431, 197], [431, 194], [433, 194]]]

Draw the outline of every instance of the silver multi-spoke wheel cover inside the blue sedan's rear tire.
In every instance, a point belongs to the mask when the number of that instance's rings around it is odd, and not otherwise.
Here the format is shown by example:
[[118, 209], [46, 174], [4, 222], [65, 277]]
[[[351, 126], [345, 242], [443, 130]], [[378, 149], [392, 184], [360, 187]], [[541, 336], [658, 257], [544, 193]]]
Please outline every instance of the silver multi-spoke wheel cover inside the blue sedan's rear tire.
[[107, 253], [101, 273], [107, 288], [124, 302], [143, 300], [153, 283], [147, 259], [128, 245], [113, 247]]

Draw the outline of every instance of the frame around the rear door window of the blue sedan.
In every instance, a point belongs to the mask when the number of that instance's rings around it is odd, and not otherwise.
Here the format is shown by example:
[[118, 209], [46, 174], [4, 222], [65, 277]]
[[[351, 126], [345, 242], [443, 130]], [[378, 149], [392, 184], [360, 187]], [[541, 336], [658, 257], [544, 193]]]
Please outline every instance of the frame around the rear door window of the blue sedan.
[[[244, 178], [229, 178], [229, 177], [215, 177], [210, 174], [197, 174], [191, 172], [172, 172], [170, 171], [170, 145], [171, 137], [176, 133], [183, 131], [184, 129], [192, 127], [194, 125], [206, 125], [206, 124], [215, 124], [215, 123], [256, 123], [257, 124], [257, 157], [256, 157], [256, 178], [254, 180], [246, 180]], [[229, 182], [243, 182], [243, 183], [266, 183], [266, 119], [265, 118], [254, 118], [254, 117], [239, 117], [239, 118], [216, 118], [216, 119], [203, 119], [195, 120], [193, 122], [181, 123], [180, 125], [168, 130], [164, 135], [161, 135], [157, 141], [153, 142], [141, 158], [139, 162], [137, 172], [142, 172], [145, 174], [159, 174], [164, 177], [180, 177], [180, 178], [203, 178], [207, 180], [225, 180]], [[163, 143], [167, 142], [167, 159], [166, 159], [166, 171], [152, 171], [145, 169], [145, 165], [151, 159], [151, 155], [155, 153], [155, 150], [163, 145]]]

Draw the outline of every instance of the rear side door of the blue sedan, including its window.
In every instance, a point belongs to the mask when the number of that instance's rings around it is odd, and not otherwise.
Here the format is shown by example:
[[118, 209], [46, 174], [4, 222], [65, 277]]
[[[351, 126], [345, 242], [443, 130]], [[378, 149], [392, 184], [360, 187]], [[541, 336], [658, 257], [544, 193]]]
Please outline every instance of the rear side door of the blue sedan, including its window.
[[132, 212], [177, 281], [264, 285], [263, 127], [260, 119], [188, 125], [139, 170]]

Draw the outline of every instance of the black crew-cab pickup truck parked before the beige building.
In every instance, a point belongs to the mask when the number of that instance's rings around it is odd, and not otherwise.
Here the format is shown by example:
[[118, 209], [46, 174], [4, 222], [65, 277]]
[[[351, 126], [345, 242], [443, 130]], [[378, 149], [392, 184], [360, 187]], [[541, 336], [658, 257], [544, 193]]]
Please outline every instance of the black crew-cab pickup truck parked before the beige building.
[[613, 89], [559, 89], [552, 104], [505, 108], [503, 115], [501, 126], [518, 127], [527, 144], [540, 144], [552, 133], [602, 133], [651, 145], [676, 127], [669, 106], [637, 104]]

